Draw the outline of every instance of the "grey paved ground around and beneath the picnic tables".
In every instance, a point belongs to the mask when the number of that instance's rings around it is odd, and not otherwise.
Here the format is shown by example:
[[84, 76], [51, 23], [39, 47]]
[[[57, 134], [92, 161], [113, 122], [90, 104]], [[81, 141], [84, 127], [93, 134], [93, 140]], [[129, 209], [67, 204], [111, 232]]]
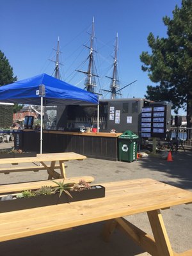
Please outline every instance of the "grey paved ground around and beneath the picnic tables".
[[[2, 147], [10, 147], [12, 143], [2, 143]], [[92, 175], [95, 183], [111, 180], [139, 179], [149, 177], [180, 188], [192, 191], [192, 152], [173, 154], [173, 162], [160, 157], [147, 157], [133, 163], [86, 159], [84, 161], [69, 161], [67, 176]], [[47, 179], [45, 171], [38, 173], [0, 174], [0, 184], [24, 182], [28, 180]], [[192, 204], [179, 205], [162, 212], [168, 236], [176, 252], [192, 248]], [[127, 217], [132, 223], [151, 233], [146, 214]], [[39, 236], [16, 239], [0, 244], [1, 256], [147, 256], [138, 246], [127, 239], [124, 234], [116, 231], [109, 243], [104, 243], [100, 237], [103, 223], [74, 228], [68, 232], [52, 232]], [[163, 255], [162, 255], [163, 256]]]

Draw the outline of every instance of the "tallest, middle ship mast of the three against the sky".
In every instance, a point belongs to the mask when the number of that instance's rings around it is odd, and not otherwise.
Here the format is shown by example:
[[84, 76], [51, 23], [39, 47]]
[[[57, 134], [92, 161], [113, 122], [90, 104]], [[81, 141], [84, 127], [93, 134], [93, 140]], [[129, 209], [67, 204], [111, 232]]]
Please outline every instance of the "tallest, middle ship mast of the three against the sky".
[[94, 17], [93, 17], [92, 33], [90, 35], [90, 47], [84, 45], [85, 47], [90, 49], [90, 54], [88, 56], [88, 70], [87, 70], [87, 72], [82, 71], [82, 70], [77, 70], [78, 72], [86, 74], [86, 79], [84, 81], [84, 86], [85, 86], [84, 89], [86, 89], [88, 92], [92, 92], [92, 93], [95, 93], [95, 87], [97, 86], [96, 81], [95, 81], [95, 77], [98, 77], [97, 75], [95, 75], [94, 59], [93, 59], [94, 37], [95, 37], [95, 29], [94, 29]]

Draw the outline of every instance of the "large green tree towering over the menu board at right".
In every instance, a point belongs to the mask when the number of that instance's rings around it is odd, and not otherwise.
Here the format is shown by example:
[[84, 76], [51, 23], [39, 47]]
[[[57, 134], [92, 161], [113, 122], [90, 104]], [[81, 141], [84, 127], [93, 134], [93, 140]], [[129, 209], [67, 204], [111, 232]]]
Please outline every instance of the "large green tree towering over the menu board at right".
[[142, 52], [143, 71], [157, 86], [147, 86], [147, 99], [171, 102], [175, 113], [187, 111], [188, 127], [192, 127], [192, 1], [182, 0], [175, 6], [173, 19], [163, 17], [167, 37], [148, 35], [151, 53]]

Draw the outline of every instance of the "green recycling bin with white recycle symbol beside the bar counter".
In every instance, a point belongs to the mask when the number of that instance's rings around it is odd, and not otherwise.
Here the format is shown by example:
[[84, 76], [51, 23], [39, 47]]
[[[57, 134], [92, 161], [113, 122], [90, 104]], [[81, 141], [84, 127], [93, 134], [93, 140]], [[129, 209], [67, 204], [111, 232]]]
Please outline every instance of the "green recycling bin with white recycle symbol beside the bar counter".
[[132, 162], [137, 159], [139, 136], [132, 131], [125, 131], [118, 137], [118, 160]]

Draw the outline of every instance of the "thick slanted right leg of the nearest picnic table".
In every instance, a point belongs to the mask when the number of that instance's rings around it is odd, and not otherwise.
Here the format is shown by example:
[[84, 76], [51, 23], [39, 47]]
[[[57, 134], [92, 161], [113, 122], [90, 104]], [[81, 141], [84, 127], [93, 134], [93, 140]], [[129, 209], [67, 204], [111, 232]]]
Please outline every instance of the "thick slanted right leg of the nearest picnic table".
[[158, 255], [173, 256], [172, 246], [166, 233], [160, 210], [149, 211], [147, 215], [156, 241]]

